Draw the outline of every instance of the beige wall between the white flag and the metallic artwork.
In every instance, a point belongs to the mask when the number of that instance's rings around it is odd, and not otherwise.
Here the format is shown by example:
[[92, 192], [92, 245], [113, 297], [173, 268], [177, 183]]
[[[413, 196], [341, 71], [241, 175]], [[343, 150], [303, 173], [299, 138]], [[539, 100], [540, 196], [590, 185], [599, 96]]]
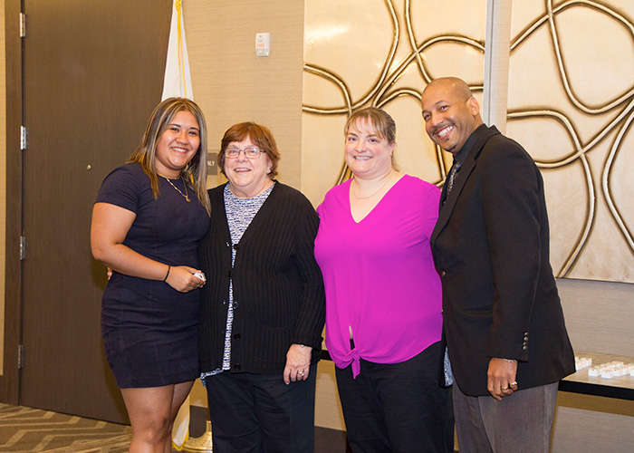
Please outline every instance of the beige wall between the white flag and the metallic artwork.
[[[209, 151], [225, 130], [253, 120], [272, 130], [279, 180], [301, 188], [303, 0], [184, 3], [194, 99], [205, 112]], [[255, 34], [271, 34], [268, 57]], [[209, 178], [209, 186], [222, 179]]]

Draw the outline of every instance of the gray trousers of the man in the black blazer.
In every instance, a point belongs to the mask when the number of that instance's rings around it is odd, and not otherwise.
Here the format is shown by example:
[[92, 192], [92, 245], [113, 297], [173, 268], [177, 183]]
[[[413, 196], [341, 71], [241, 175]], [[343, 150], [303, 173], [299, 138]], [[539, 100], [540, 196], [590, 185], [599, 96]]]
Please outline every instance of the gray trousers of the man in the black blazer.
[[517, 390], [502, 401], [473, 397], [454, 382], [460, 453], [547, 453], [559, 382]]

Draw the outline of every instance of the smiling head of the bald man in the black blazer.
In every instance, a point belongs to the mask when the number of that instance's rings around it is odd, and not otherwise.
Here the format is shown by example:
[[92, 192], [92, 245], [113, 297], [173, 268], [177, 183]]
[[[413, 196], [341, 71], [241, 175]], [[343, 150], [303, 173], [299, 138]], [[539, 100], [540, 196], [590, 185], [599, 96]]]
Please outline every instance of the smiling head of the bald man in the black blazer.
[[421, 106], [427, 135], [452, 154], [462, 149], [482, 124], [480, 105], [466, 83], [458, 79], [438, 79], [427, 85]]

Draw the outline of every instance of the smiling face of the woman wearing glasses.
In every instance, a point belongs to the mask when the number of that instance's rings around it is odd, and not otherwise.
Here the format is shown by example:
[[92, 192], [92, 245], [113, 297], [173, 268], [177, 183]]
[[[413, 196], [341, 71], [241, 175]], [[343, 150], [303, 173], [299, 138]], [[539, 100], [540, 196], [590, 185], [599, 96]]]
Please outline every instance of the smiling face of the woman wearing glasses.
[[[242, 141], [231, 141], [226, 148], [245, 149], [257, 145], [248, 136]], [[273, 164], [265, 152], [257, 159], [247, 159], [240, 152], [235, 159], [225, 157], [225, 175], [229, 180], [229, 188], [238, 198], [254, 198], [271, 184], [269, 172]]]

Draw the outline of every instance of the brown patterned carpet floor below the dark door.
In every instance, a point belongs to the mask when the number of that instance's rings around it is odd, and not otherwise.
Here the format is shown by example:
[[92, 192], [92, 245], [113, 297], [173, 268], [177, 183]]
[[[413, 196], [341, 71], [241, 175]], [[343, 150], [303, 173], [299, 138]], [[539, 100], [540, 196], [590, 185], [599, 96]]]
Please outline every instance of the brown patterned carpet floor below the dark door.
[[[205, 431], [206, 412], [192, 410], [192, 438]], [[0, 403], [0, 452], [124, 453], [129, 445], [126, 425]], [[315, 428], [315, 453], [345, 451], [345, 433]]]

